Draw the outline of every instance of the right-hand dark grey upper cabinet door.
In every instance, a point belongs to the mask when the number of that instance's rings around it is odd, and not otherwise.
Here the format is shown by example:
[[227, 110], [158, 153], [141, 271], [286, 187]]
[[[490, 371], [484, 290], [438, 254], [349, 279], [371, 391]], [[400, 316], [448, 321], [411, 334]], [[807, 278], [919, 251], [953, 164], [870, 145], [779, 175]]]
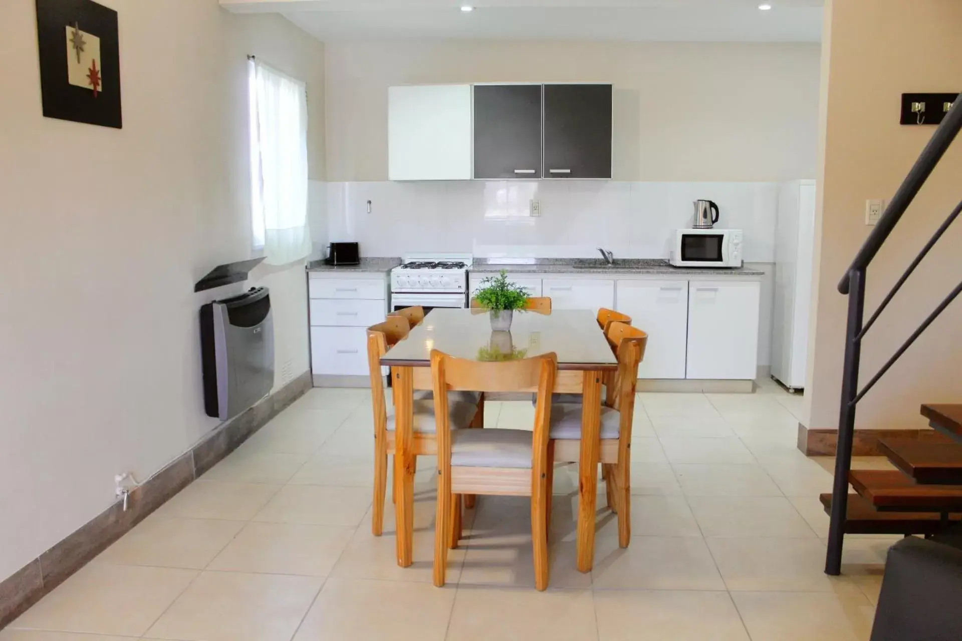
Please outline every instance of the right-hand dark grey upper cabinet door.
[[611, 178], [611, 109], [611, 85], [544, 86], [544, 178]]

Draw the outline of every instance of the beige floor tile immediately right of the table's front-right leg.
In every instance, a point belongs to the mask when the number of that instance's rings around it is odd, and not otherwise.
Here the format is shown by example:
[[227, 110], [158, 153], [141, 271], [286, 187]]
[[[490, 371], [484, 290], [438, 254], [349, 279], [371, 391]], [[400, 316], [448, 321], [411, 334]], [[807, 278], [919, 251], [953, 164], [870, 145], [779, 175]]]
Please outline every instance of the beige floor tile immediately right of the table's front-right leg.
[[595, 589], [724, 590], [715, 560], [701, 538], [633, 536], [595, 538]]

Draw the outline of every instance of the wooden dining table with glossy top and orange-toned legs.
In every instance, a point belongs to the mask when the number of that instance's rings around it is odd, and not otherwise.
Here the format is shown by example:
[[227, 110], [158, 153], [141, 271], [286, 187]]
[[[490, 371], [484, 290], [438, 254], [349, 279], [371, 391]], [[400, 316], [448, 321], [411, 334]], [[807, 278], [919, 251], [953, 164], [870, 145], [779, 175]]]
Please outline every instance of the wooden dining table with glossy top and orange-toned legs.
[[397, 564], [401, 567], [412, 563], [414, 537], [414, 390], [433, 387], [431, 350], [475, 360], [536, 357], [551, 352], [557, 355], [554, 391], [583, 395], [578, 460], [577, 564], [581, 572], [590, 572], [595, 558], [601, 381], [605, 372], [618, 369], [618, 359], [595, 321], [595, 312], [588, 309], [546, 313], [516, 310], [510, 332], [493, 332], [485, 310], [436, 308], [407, 338], [381, 358], [382, 365], [391, 367], [393, 386], [394, 509]]

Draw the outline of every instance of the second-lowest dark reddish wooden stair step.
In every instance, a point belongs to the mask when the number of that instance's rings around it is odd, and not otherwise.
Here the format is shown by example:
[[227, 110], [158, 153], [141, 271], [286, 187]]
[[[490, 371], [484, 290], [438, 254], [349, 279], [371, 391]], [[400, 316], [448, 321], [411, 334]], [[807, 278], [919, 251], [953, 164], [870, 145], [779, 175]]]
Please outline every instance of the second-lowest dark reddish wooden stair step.
[[923, 485], [894, 470], [852, 470], [848, 482], [878, 510], [962, 511], [959, 485]]

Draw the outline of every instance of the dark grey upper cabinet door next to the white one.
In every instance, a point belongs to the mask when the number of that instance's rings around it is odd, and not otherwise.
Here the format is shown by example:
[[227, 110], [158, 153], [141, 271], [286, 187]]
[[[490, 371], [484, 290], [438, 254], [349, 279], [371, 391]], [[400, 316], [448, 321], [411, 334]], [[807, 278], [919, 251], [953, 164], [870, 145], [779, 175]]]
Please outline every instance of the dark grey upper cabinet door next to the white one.
[[542, 86], [474, 86], [474, 178], [542, 176]]

